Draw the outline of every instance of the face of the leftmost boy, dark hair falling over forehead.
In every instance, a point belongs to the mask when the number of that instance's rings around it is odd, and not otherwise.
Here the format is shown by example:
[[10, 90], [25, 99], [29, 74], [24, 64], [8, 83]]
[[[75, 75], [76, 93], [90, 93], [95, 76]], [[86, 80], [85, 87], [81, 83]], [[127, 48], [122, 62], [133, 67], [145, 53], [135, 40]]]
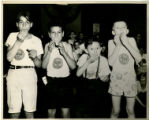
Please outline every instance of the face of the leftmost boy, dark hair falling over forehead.
[[24, 16], [21, 16], [19, 22], [17, 22], [16, 25], [19, 31], [28, 32], [33, 23], [28, 21]]

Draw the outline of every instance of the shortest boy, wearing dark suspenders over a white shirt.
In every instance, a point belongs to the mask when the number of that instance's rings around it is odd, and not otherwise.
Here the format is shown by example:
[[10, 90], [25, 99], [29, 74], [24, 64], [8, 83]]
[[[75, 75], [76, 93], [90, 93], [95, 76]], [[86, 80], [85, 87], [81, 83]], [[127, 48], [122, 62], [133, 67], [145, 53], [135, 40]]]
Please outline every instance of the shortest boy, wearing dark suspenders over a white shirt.
[[[105, 86], [105, 81], [108, 81], [110, 69], [108, 61], [105, 57], [101, 56], [102, 47], [97, 39], [89, 39], [85, 42], [85, 48], [87, 53], [83, 54], [78, 60], [77, 77], [83, 76], [84, 80], [80, 79], [78, 84], [82, 83], [80, 86], [82, 91], [80, 101], [88, 109], [95, 109], [99, 105], [100, 112], [102, 112], [102, 107], [105, 105], [105, 94], [107, 93]], [[104, 103], [103, 103], [104, 102]], [[104, 105], [103, 105], [104, 104]]]

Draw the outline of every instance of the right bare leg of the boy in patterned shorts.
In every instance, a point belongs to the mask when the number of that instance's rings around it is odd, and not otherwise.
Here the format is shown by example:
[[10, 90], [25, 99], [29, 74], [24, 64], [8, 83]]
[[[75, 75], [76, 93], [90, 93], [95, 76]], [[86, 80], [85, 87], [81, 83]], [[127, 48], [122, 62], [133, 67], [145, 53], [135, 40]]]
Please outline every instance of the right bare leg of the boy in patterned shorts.
[[128, 118], [135, 118], [135, 112], [134, 112], [135, 97], [127, 97], [126, 100], [127, 100], [126, 111], [128, 114]]

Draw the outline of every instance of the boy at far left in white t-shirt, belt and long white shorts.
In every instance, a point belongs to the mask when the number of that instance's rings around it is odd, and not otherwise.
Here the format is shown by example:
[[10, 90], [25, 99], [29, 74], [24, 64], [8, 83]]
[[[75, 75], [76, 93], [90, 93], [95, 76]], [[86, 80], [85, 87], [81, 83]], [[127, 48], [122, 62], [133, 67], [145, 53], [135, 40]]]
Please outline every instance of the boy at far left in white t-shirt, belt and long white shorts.
[[37, 75], [35, 67], [41, 66], [43, 48], [41, 40], [29, 33], [33, 26], [29, 12], [20, 12], [16, 26], [19, 32], [10, 33], [5, 45], [10, 62], [7, 79], [7, 102], [11, 118], [19, 118], [22, 103], [27, 118], [36, 111]]

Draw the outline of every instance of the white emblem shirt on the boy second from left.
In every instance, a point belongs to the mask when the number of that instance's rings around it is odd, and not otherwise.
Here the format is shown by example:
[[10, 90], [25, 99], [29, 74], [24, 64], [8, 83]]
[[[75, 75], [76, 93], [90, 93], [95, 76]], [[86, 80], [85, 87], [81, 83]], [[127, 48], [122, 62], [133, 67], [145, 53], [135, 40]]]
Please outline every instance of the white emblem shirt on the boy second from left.
[[[70, 58], [74, 59], [73, 54], [70, 53], [70, 50], [72, 49], [70, 44], [66, 42], [62, 42], [62, 44]], [[46, 44], [45, 48], [48, 45], [49, 43]], [[69, 76], [69, 74], [70, 70], [65, 58], [60, 54], [59, 49], [55, 47], [50, 55], [49, 63], [47, 66], [47, 76], [62, 78]]]

